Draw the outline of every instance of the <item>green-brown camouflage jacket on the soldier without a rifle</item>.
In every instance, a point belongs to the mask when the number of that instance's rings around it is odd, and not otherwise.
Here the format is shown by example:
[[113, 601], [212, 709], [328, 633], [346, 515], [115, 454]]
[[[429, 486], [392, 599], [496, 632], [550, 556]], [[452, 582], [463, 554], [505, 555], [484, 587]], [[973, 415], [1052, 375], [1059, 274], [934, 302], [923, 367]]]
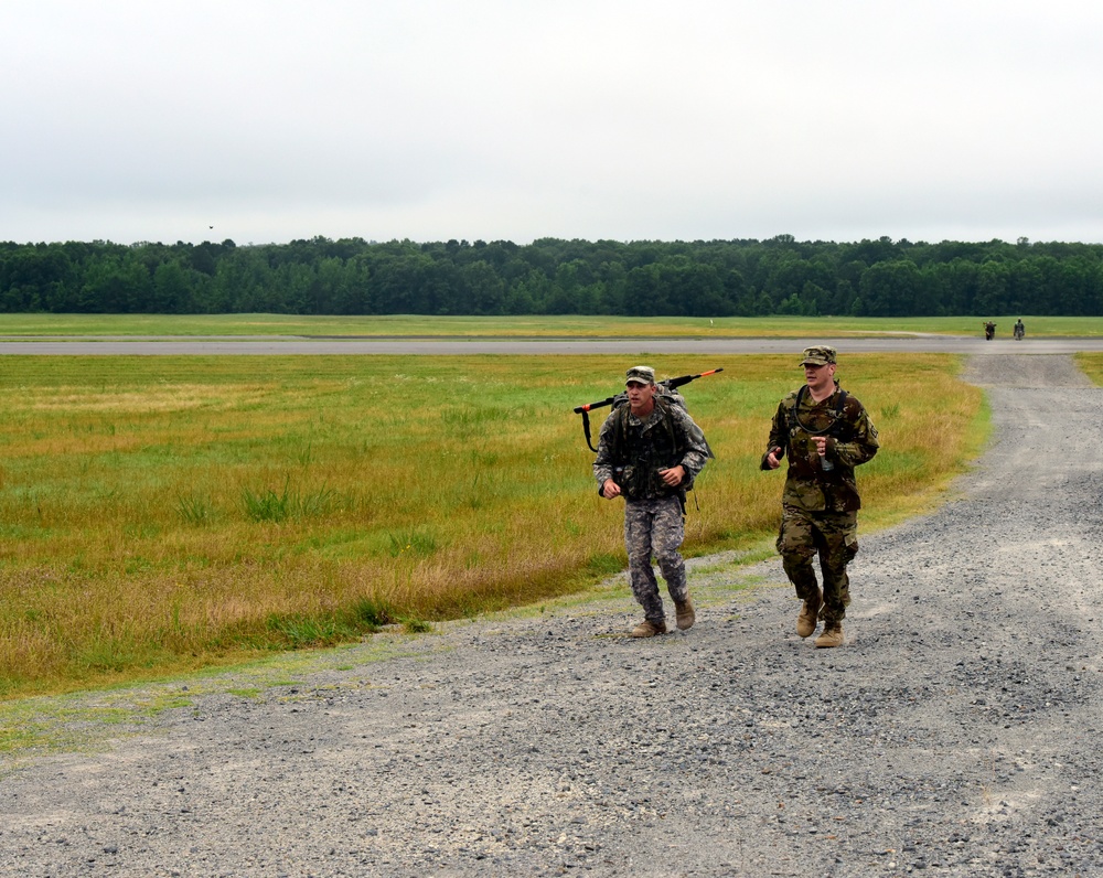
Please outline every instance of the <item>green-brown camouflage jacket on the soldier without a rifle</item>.
[[[824, 435], [826, 458], [835, 464], [829, 472], [821, 467], [813, 441]], [[803, 388], [781, 400], [770, 425], [763, 470], [770, 469], [765, 459], [773, 448], [789, 458], [783, 504], [807, 512], [854, 512], [861, 506], [854, 468], [872, 458], [880, 445], [865, 407], [836, 382], [835, 393], [821, 403]]]

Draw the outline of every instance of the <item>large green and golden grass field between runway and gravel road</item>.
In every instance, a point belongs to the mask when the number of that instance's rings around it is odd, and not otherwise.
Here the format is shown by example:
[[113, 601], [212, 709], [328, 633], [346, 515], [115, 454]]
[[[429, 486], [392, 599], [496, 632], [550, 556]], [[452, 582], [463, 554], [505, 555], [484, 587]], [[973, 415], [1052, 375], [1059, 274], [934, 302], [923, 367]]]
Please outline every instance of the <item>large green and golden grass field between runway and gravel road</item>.
[[[769, 550], [758, 470], [793, 358], [655, 357], [718, 460], [686, 552]], [[571, 408], [613, 356], [7, 357], [0, 697], [334, 644], [538, 601], [623, 568]], [[700, 368], [696, 368], [699, 366]], [[847, 357], [885, 451], [863, 526], [927, 508], [979, 449], [979, 390], [941, 355]], [[600, 424], [598, 415], [593, 429]], [[699, 512], [696, 505], [699, 504]]]

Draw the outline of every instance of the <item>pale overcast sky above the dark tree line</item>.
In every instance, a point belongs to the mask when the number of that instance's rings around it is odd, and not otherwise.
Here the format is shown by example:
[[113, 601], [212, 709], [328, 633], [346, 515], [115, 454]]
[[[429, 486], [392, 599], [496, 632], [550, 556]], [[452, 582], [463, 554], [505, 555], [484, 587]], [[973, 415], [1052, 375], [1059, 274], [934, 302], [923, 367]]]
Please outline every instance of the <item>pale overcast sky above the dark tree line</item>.
[[1086, 0], [4, 0], [0, 74], [0, 240], [1103, 242]]

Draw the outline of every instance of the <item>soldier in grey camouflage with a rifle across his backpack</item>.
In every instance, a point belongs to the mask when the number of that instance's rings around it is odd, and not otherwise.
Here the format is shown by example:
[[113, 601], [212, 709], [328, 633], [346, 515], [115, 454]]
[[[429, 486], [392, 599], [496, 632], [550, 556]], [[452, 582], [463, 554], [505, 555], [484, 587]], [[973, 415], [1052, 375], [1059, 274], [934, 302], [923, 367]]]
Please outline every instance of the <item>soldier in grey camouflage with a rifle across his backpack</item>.
[[614, 408], [601, 425], [593, 477], [601, 496], [624, 497], [629, 577], [644, 613], [632, 636], [651, 638], [666, 633], [652, 556], [674, 600], [678, 629], [689, 629], [696, 619], [678, 547], [685, 536], [685, 492], [711, 451], [681, 396], [655, 385], [653, 368], [630, 368], [625, 390], [628, 405]]

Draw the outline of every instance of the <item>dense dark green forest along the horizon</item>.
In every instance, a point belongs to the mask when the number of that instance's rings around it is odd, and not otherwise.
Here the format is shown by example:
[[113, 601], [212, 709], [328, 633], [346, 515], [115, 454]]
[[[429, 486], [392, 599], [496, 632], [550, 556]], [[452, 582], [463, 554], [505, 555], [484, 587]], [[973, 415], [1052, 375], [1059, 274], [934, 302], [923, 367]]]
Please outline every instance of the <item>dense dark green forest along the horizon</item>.
[[0, 243], [0, 311], [1103, 315], [1103, 245], [791, 235], [527, 245]]

